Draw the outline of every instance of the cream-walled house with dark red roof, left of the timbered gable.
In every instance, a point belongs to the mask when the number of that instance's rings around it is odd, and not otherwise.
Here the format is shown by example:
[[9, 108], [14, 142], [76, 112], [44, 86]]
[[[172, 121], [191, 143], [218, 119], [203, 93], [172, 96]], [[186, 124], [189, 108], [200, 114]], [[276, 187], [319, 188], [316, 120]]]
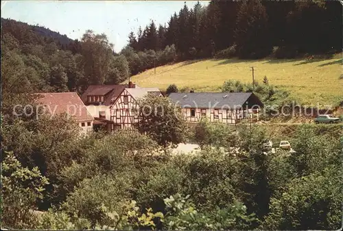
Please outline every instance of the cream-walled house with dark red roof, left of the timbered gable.
[[95, 118], [96, 129], [99, 129], [99, 126], [104, 126], [107, 131], [114, 129], [110, 107], [125, 88], [139, 88], [139, 86], [132, 82], [117, 85], [90, 85], [82, 94], [81, 99], [84, 105]]

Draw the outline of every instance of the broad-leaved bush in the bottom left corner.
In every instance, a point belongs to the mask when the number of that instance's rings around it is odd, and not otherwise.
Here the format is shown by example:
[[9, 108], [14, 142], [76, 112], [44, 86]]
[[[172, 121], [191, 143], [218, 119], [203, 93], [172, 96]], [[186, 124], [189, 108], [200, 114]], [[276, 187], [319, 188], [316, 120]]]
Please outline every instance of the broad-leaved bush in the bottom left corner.
[[1, 162], [1, 226], [15, 229], [35, 227], [36, 202], [43, 199], [48, 179], [42, 176], [38, 167], [32, 170], [22, 167], [13, 152], [5, 152]]

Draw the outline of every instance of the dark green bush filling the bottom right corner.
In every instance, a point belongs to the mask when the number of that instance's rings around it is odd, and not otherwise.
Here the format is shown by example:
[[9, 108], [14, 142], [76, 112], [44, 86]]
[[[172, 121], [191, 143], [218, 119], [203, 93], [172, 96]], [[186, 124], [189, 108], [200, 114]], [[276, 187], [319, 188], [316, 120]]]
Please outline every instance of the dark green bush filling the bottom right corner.
[[338, 230], [342, 216], [342, 170], [325, 169], [287, 184], [270, 202], [265, 230]]

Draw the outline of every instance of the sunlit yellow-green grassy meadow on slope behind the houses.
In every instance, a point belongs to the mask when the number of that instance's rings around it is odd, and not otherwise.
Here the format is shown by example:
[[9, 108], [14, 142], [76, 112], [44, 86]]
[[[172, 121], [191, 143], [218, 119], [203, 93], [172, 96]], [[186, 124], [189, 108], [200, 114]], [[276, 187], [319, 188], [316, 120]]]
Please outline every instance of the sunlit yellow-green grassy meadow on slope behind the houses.
[[342, 100], [342, 54], [331, 59], [204, 59], [180, 62], [146, 70], [131, 79], [141, 87], [159, 87], [165, 90], [175, 83], [198, 92], [220, 92], [224, 81], [235, 79], [252, 82], [267, 76], [269, 83], [279, 85], [305, 105], [338, 105]]

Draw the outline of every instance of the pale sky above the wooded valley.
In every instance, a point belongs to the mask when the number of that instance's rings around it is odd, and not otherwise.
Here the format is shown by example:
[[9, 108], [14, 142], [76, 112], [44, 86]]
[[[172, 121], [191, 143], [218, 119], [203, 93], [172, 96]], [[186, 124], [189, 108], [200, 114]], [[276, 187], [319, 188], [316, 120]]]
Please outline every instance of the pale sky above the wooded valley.
[[[193, 8], [197, 1], [186, 1]], [[207, 5], [209, 1], [200, 1]], [[130, 31], [137, 33], [154, 20], [167, 25], [171, 14], [185, 1], [1, 1], [1, 17], [40, 25], [79, 39], [87, 29], [105, 33], [119, 52], [128, 43]]]

